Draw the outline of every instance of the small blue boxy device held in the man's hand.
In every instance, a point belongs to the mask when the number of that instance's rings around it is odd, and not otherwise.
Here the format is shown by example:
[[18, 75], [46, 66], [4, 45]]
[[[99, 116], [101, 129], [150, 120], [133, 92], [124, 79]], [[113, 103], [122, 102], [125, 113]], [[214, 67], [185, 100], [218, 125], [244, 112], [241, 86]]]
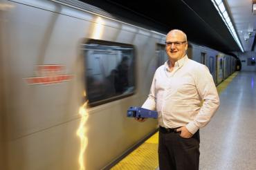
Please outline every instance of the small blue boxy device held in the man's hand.
[[131, 106], [127, 111], [127, 117], [151, 117], [151, 118], [157, 118], [157, 111], [150, 111], [146, 108]]

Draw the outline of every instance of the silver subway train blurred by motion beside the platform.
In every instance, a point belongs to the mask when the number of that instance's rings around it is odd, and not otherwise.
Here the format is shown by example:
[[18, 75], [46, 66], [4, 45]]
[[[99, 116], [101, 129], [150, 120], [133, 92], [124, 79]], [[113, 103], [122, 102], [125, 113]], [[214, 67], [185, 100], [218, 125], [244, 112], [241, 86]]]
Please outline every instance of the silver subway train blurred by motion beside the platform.
[[[0, 14], [0, 169], [108, 169], [158, 130], [126, 113], [167, 61], [163, 33], [77, 0], [0, 0]], [[215, 84], [235, 72], [205, 46], [188, 57]]]

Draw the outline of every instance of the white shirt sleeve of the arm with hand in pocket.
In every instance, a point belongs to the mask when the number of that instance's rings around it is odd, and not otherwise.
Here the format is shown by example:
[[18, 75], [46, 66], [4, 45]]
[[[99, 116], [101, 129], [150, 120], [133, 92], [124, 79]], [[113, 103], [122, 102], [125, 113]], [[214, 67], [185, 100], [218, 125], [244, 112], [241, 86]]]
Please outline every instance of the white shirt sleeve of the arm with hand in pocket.
[[210, 122], [210, 118], [219, 108], [219, 95], [208, 68], [201, 66], [194, 73], [196, 89], [203, 104], [194, 120], [186, 125], [190, 133], [196, 133], [198, 129]]

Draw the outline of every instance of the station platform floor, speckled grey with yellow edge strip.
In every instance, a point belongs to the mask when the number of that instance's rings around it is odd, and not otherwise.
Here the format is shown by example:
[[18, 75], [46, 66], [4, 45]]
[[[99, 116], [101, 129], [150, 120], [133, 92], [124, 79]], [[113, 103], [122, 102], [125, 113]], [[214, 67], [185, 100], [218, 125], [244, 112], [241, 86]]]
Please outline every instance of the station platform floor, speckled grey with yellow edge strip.
[[[217, 86], [221, 105], [200, 130], [201, 170], [256, 169], [256, 73], [234, 73]], [[158, 169], [158, 133], [116, 164], [117, 169]]]

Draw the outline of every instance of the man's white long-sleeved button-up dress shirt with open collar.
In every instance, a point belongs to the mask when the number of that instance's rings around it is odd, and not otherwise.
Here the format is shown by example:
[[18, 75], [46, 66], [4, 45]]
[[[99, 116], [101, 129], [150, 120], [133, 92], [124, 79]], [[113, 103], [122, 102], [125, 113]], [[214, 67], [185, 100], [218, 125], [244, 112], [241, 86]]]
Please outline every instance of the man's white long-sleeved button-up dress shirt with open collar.
[[167, 62], [157, 68], [142, 107], [158, 111], [160, 126], [186, 126], [194, 134], [210, 122], [219, 107], [219, 95], [208, 68], [185, 55], [172, 72]]

